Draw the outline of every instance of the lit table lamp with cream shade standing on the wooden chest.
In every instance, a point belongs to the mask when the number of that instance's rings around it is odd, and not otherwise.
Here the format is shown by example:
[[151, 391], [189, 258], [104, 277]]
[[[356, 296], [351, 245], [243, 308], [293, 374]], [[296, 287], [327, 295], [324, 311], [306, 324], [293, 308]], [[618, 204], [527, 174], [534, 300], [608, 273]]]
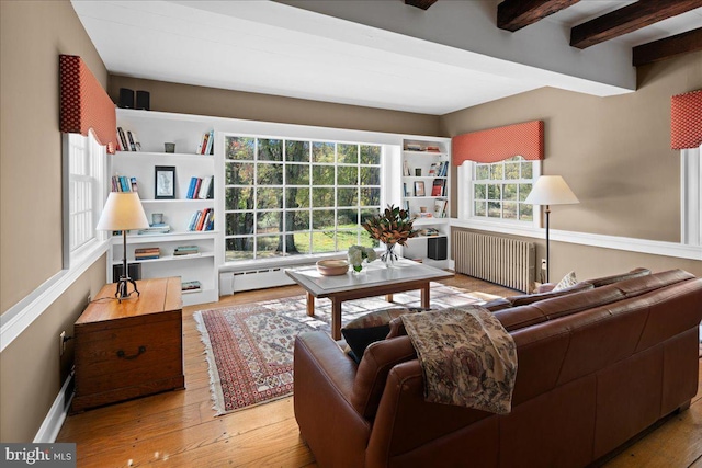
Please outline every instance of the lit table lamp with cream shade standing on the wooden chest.
[[129, 283], [134, 286], [134, 292], [139, 295], [136, 282], [129, 277], [127, 269], [127, 231], [131, 229], [146, 229], [149, 221], [144, 213], [144, 207], [139, 201], [137, 192], [111, 192], [102, 209], [100, 220], [95, 229], [102, 231], [122, 231], [123, 258], [122, 275], [117, 282], [117, 290], [114, 294], [120, 301], [132, 295], [127, 292]]

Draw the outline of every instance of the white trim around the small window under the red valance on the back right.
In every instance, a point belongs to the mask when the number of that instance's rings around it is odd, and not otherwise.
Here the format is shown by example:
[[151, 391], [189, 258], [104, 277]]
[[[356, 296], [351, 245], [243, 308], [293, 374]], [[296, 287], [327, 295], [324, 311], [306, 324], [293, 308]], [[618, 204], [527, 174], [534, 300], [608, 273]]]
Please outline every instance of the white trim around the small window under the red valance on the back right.
[[[532, 161], [532, 170], [534, 174], [534, 181], [541, 175], [541, 161]], [[475, 227], [477, 229], [494, 230], [494, 231], [523, 231], [525, 235], [533, 236], [535, 231], [541, 229], [541, 209], [539, 206], [534, 206], [533, 220], [519, 221], [511, 219], [495, 219], [485, 217], [473, 216], [473, 191], [472, 181], [474, 167], [476, 162], [464, 161], [458, 165], [456, 175], [458, 180], [458, 220], [463, 226]]]

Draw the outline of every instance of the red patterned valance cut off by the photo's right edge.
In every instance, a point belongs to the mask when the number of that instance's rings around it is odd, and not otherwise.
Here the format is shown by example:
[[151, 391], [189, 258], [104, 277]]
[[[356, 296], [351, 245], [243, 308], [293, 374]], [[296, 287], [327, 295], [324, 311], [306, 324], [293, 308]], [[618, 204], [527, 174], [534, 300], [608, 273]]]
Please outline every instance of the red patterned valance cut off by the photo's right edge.
[[702, 145], [702, 90], [670, 99], [670, 148], [687, 149]]

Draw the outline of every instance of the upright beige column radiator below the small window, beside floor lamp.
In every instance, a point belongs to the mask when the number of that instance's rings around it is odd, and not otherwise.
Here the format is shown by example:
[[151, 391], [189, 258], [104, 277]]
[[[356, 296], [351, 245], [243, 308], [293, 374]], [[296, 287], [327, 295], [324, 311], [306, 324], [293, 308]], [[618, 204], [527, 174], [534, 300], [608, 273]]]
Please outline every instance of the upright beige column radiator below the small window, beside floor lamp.
[[455, 271], [511, 289], [534, 287], [536, 247], [533, 242], [469, 231], [453, 231]]

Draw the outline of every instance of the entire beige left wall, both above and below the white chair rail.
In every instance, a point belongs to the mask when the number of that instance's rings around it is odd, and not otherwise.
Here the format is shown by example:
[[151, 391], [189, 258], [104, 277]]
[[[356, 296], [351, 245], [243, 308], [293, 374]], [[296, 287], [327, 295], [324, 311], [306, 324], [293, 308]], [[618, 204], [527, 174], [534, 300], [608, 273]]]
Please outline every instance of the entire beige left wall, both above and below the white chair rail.
[[[61, 270], [58, 55], [107, 72], [67, 0], [0, 1], [0, 313]], [[58, 334], [105, 281], [97, 262], [0, 354], [0, 441], [31, 442], [70, 359]]]

